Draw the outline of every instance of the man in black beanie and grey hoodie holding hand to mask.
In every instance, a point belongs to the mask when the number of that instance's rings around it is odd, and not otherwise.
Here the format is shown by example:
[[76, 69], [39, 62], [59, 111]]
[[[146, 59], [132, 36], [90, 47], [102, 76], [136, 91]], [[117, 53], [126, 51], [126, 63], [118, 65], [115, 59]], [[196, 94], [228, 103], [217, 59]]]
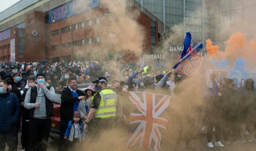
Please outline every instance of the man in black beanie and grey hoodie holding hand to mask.
[[29, 110], [29, 146], [28, 150], [47, 150], [47, 141], [54, 115], [53, 101], [55, 90], [45, 82], [43, 73], [37, 74], [37, 84], [28, 89], [24, 108]]

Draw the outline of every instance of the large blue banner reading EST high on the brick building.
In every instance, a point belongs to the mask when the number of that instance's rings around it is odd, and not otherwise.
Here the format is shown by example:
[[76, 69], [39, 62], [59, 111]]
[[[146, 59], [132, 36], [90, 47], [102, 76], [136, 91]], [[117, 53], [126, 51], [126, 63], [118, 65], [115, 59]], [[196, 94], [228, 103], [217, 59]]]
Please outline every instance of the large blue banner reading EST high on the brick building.
[[49, 11], [49, 23], [65, 19], [99, 6], [99, 0], [74, 0]]

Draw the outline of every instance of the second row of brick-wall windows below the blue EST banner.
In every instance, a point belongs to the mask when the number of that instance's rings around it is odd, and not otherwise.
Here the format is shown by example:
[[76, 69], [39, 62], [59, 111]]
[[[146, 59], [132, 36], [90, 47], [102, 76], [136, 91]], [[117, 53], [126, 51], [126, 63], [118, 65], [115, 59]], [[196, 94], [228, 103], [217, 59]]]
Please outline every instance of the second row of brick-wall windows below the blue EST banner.
[[[100, 42], [100, 36], [90, 37], [90, 38], [87, 38], [86, 40], [87, 40], [87, 44], [98, 43]], [[84, 39], [73, 41], [74, 46], [81, 46], [84, 44], [85, 44]], [[70, 47], [71, 47], [71, 42], [66, 42], [61, 44], [61, 49], [70, 48]], [[59, 49], [60, 49], [59, 44], [52, 45], [52, 51], [59, 50]], [[47, 51], [47, 48], [45, 49], [45, 51]]]

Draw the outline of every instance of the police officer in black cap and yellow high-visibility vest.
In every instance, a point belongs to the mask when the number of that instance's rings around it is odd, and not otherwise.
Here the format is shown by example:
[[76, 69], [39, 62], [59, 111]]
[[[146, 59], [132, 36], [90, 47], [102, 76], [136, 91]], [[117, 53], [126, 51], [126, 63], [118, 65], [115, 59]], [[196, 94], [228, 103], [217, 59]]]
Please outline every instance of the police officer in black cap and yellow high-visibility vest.
[[98, 93], [94, 95], [93, 104], [85, 120], [84, 130], [88, 131], [89, 122], [94, 117], [97, 125], [94, 126], [94, 131], [91, 135], [97, 138], [100, 130], [111, 130], [116, 126], [116, 93], [107, 88], [108, 80], [104, 77], [97, 78], [93, 83], [96, 83], [95, 90]]

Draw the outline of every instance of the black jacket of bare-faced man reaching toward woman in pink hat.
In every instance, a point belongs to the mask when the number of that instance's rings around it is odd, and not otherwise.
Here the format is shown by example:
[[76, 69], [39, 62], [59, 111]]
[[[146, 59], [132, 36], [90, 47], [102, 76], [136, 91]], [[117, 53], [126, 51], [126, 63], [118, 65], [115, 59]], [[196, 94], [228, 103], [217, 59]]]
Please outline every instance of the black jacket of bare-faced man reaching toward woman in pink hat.
[[[82, 90], [76, 89], [78, 96], [85, 95]], [[74, 102], [79, 101], [78, 97], [73, 97], [70, 89], [64, 88], [61, 92], [60, 118], [66, 120], [73, 119]]]

